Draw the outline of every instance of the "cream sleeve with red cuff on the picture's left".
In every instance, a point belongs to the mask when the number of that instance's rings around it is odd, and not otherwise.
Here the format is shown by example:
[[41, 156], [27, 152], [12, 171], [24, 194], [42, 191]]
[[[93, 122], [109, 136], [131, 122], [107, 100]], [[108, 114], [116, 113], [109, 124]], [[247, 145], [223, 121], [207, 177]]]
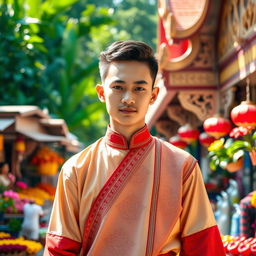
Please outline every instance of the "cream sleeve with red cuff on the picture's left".
[[75, 256], [80, 252], [79, 200], [72, 162], [66, 162], [59, 175], [44, 256]]

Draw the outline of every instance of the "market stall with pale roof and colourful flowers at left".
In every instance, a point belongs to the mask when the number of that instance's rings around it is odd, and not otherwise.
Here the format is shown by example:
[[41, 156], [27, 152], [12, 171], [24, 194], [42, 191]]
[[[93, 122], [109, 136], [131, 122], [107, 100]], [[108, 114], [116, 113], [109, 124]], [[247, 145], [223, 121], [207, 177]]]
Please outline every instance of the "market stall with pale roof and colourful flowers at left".
[[44, 213], [38, 231], [44, 243], [58, 172], [80, 147], [63, 119], [51, 118], [37, 106], [0, 106], [0, 232], [9, 234], [0, 236], [0, 251], [4, 239], [11, 247], [34, 252], [24, 239], [10, 238], [22, 235], [24, 206], [31, 202]]

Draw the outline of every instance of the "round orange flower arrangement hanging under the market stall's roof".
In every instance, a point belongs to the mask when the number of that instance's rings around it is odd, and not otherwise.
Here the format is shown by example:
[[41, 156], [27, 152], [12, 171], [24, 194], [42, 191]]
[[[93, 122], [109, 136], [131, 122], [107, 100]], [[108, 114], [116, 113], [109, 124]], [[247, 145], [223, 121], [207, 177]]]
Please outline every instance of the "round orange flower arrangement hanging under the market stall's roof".
[[31, 160], [38, 167], [39, 173], [44, 175], [55, 175], [63, 162], [64, 159], [48, 147], [40, 148]]

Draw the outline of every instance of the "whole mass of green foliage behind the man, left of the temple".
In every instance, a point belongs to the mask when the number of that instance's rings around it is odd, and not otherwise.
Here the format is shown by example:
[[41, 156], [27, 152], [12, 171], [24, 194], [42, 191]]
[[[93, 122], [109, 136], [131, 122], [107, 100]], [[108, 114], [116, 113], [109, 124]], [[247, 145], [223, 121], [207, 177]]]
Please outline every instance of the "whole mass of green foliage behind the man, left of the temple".
[[89, 144], [105, 132], [94, 86], [116, 40], [156, 44], [156, 0], [0, 0], [1, 105], [38, 105]]

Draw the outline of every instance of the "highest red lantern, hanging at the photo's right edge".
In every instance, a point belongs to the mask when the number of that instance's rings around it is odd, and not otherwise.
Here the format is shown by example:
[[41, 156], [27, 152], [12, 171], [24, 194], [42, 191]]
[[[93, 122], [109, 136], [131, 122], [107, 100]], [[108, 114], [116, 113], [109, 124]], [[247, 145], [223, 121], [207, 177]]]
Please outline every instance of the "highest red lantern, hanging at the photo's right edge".
[[242, 101], [231, 110], [231, 119], [237, 126], [256, 126], [256, 105], [250, 101]]

